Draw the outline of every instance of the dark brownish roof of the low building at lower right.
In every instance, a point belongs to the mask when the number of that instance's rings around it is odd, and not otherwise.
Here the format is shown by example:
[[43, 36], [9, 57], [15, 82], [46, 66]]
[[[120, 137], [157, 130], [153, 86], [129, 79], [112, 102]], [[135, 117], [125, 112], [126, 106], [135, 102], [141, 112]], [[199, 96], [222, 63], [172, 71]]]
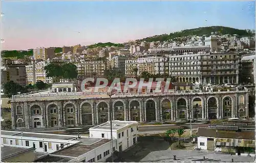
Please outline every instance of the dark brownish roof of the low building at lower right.
[[199, 137], [208, 137], [208, 138], [255, 140], [254, 130], [241, 130], [236, 132], [236, 131], [228, 131], [228, 130], [216, 130], [216, 128], [199, 127], [197, 134]]

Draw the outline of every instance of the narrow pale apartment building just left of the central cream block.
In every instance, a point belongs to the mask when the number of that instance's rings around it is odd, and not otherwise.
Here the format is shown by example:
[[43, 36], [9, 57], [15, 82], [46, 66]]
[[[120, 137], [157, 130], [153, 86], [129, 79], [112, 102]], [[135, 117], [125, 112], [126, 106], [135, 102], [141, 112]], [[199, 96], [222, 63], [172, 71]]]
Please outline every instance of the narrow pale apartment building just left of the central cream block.
[[110, 59], [110, 67], [118, 68], [122, 73], [125, 73], [125, 60], [127, 59], [124, 55], [114, 56]]

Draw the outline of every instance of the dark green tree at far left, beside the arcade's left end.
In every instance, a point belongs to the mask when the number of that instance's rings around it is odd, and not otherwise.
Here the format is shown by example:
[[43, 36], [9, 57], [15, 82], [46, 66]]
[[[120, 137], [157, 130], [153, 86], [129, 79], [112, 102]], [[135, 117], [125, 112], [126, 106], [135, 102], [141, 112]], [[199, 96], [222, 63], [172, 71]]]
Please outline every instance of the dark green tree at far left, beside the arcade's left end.
[[11, 98], [12, 95], [17, 95], [18, 92], [27, 93], [28, 90], [25, 87], [14, 83], [12, 80], [4, 85], [4, 93], [7, 95], [8, 98]]

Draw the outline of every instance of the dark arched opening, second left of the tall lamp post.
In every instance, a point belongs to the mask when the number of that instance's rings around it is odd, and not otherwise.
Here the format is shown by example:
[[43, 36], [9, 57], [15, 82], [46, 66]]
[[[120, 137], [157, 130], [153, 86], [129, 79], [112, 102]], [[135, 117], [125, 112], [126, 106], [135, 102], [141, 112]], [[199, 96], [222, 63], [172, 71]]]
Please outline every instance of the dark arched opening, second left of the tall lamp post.
[[82, 124], [92, 125], [92, 105], [88, 102], [84, 102], [81, 106], [82, 110]]

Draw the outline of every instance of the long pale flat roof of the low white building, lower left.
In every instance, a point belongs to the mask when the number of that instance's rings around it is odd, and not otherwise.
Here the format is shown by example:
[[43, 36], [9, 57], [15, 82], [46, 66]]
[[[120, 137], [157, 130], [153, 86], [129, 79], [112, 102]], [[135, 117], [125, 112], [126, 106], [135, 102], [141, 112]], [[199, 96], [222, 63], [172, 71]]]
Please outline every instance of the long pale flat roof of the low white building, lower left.
[[72, 140], [76, 138], [75, 135], [20, 132], [20, 131], [7, 131], [7, 130], [1, 130], [1, 135], [13, 135], [17, 137], [45, 138], [45, 139], [59, 139], [59, 140]]

